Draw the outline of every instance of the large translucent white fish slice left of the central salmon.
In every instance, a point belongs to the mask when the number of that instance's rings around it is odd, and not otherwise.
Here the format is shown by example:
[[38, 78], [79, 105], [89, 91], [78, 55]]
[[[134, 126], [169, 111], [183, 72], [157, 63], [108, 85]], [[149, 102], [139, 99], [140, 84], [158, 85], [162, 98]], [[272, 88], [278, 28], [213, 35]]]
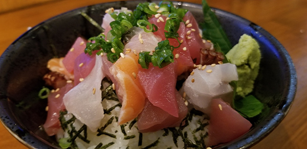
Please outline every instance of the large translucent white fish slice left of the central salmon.
[[93, 132], [97, 131], [104, 116], [100, 90], [104, 74], [101, 69], [101, 56], [96, 55], [95, 66], [89, 76], [84, 78], [83, 82], [80, 82], [63, 97], [67, 111], [85, 123], [87, 128]]

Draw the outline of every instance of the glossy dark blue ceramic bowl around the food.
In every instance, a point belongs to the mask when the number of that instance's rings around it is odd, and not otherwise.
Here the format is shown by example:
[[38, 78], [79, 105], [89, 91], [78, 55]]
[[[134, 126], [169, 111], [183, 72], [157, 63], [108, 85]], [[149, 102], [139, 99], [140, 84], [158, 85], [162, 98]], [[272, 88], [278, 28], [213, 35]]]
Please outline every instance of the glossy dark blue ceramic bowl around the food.
[[[104, 3], [58, 15], [21, 35], [6, 49], [0, 58], [0, 118], [12, 135], [29, 147], [58, 148], [55, 138], [40, 128], [47, 117], [47, 100], [39, 100], [37, 93], [44, 85], [47, 61], [54, 56], [63, 57], [78, 36], [99, 34], [80, 12], [101, 23], [106, 9], [134, 9], [140, 2], [143, 1]], [[201, 5], [174, 4], [190, 10], [203, 22]], [[288, 113], [296, 92], [296, 71], [286, 49], [267, 31], [229, 12], [213, 11], [233, 45], [243, 34], [251, 35], [260, 44], [262, 58], [253, 94], [268, 108], [251, 119], [253, 128], [247, 134], [216, 148], [249, 147], [268, 135]]]

